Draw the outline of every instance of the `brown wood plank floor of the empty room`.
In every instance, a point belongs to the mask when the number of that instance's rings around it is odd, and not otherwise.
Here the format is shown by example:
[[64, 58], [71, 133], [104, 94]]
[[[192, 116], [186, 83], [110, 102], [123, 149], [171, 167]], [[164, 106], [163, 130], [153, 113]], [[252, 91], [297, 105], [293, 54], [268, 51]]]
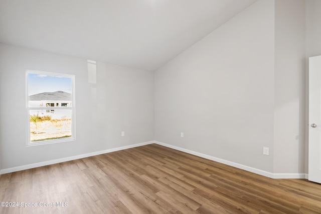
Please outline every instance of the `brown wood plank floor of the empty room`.
[[3, 174], [0, 199], [16, 205], [0, 213], [321, 213], [320, 184], [156, 144]]

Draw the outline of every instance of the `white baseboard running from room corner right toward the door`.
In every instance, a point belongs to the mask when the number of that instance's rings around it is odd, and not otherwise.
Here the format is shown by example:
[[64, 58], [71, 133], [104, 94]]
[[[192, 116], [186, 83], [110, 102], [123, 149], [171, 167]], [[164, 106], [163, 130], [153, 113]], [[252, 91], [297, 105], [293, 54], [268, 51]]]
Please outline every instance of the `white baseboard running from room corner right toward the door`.
[[199, 157], [203, 157], [203, 158], [206, 158], [206, 159], [209, 159], [209, 160], [213, 160], [213, 161], [216, 161], [216, 162], [219, 162], [219, 163], [223, 163], [223, 164], [226, 164], [226, 165], [229, 165], [229, 166], [233, 166], [233, 167], [236, 167], [236, 168], [239, 168], [239, 169], [244, 169], [246, 171], [250, 171], [250, 172], [253, 172], [253, 173], [256, 173], [256, 174], [259, 174], [259, 175], [263, 175], [263, 176], [266, 176], [266, 177], [270, 177], [270, 178], [275, 178], [275, 179], [276, 178], [277, 179], [282, 179], [282, 178], [307, 179], [307, 174], [304, 174], [304, 173], [271, 173], [271, 172], [267, 172], [267, 171], [264, 171], [264, 170], [261, 170], [261, 169], [257, 169], [257, 168], [253, 168], [253, 167], [250, 167], [250, 166], [246, 166], [246, 165], [242, 165], [242, 164], [239, 164], [239, 163], [235, 163], [235, 162], [232, 162], [232, 161], [228, 161], [228, 160], [224, 160], [224, 159], [221, 159], [221, 158], [213, 157], [213, 156], [210, 156], [210, 155], [207, 155], [207, 154], [203, 154], [203, 153], [195, 152], [195, 151], [192, 151], [192, 150], [184, 149], [184, 148], [181, 148], [181, 147], [173, 146], [173, 145], [170, 145], [170, 144], [166, 144], [166, 143], [162, 143], [162, 142], [158, 142], [158, 141], [154, 141], [154, 142], [156, 144], [158, 144], [158, 145], [162, 145], [162, 146], [166, 146], [166, 147], [169, 147], [169, 148], [172, 148], [172, 149], [183, 151], [183, 152], [186, 152], [186, 153], [189, 153], [189, 154], [193, 154], [193, 155], [196, 155], [196, 156], [199, 156]]

